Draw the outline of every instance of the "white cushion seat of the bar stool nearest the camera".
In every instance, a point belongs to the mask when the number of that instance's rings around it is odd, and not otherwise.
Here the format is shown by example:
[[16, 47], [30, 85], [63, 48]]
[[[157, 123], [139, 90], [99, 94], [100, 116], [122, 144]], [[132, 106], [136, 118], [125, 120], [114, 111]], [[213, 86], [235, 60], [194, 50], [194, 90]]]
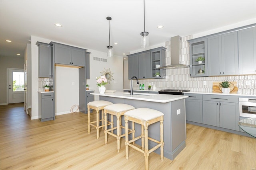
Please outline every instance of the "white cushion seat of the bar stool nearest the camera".
[[157, 117], [163, 116], [164, 113], [162, 113], [161, 111], [149, 109], [149, 108], [138, 108], [138, 109], [127, 111], [126, 113], [124, 113], [124, 115], [128, 117], [132, 117], [134, 119], [142, 120], [142, 121], [150, 121]]

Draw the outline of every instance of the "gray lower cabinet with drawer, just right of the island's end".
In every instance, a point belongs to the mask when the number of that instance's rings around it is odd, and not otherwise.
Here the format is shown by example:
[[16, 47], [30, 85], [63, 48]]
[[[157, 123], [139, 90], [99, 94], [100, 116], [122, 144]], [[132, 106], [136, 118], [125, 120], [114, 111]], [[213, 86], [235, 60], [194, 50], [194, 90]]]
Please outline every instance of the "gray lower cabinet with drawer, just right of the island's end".
[[186, 94], [186, 121], [203, 123], [202, 94]]

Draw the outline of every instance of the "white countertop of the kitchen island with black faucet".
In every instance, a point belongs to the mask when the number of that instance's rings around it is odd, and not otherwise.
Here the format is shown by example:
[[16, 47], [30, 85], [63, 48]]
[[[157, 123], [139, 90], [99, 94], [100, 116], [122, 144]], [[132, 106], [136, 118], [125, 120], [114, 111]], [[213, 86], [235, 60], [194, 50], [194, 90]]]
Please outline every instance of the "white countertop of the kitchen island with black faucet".
[[133, 99], [133, 100], [143, 100], [149, 102], [159, 102], [159, 103], [168, 103], [175, 100], [180, 100], [187, 98], [188, 96], [180, 96], [180, 95], [168, 95], [168, 94], [145, 94], [145, 93], [134, 93], [130, 95], [128, 92], [114, 92], [114, 93], [91, 93], [97, 96], [107, 96], [113, 98], [124, 98], [124, 99]]

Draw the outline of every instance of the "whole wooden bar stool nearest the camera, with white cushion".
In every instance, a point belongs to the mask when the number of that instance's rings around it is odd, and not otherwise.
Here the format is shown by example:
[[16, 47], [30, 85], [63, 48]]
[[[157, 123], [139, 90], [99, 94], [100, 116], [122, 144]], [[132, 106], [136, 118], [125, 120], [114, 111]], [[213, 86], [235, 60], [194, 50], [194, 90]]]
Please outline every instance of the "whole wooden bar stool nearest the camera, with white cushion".
[[[125, 153], [126, 159], [129, 158], [129, 146], [142, 152], [145, 156], [145, 168], [148, 170], [148, 156], [151, 152], [158, 149], [160, 147], [160, 158], [164, 159], [164, 113], [149, 109], [149, 108], [138, 108], [131, 111], [127, 111], [124, 113], [125, 120]], [[132, 140], [128, 139], [128, 121], [132, 121], [132, 123], [138, 123], [141, 125], [141, 135], [134, 138], [132, 135]], [[153, 138], [148, 137], [148, 126], [160, 121], [160, 141], [157, 141]], [[132, 126], [132, 132], [134, 133], [134, 125]], [[141, 139], [141, 149], [136, 147], [134, 141]], [[148, 150], [148, 140], [158, 143], [155, 147]], [[133, 144], [131, 144], [133, 143]]]

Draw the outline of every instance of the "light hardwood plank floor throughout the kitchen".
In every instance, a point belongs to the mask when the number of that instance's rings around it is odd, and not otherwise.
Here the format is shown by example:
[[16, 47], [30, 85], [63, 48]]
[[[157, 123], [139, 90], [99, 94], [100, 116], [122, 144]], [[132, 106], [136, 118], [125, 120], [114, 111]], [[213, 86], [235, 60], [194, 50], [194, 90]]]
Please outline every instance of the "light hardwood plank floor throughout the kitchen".
[[[164, 129], [166, 130], [166, 129]], [[178, 130], [178, 129], [177, 129]], [[116, 151], [116, 139], [96, 129], [87, 131], [87, 115], [70, 113], [55, 121], [30, 120], [23, 104], [0, 106], [0, 169], [142, 170], [144, 156], [124, 139]], [[256, 139], [187, 124], [186, 148], [172, 161], [149, 156], [151, 170], [256, 170]]]

